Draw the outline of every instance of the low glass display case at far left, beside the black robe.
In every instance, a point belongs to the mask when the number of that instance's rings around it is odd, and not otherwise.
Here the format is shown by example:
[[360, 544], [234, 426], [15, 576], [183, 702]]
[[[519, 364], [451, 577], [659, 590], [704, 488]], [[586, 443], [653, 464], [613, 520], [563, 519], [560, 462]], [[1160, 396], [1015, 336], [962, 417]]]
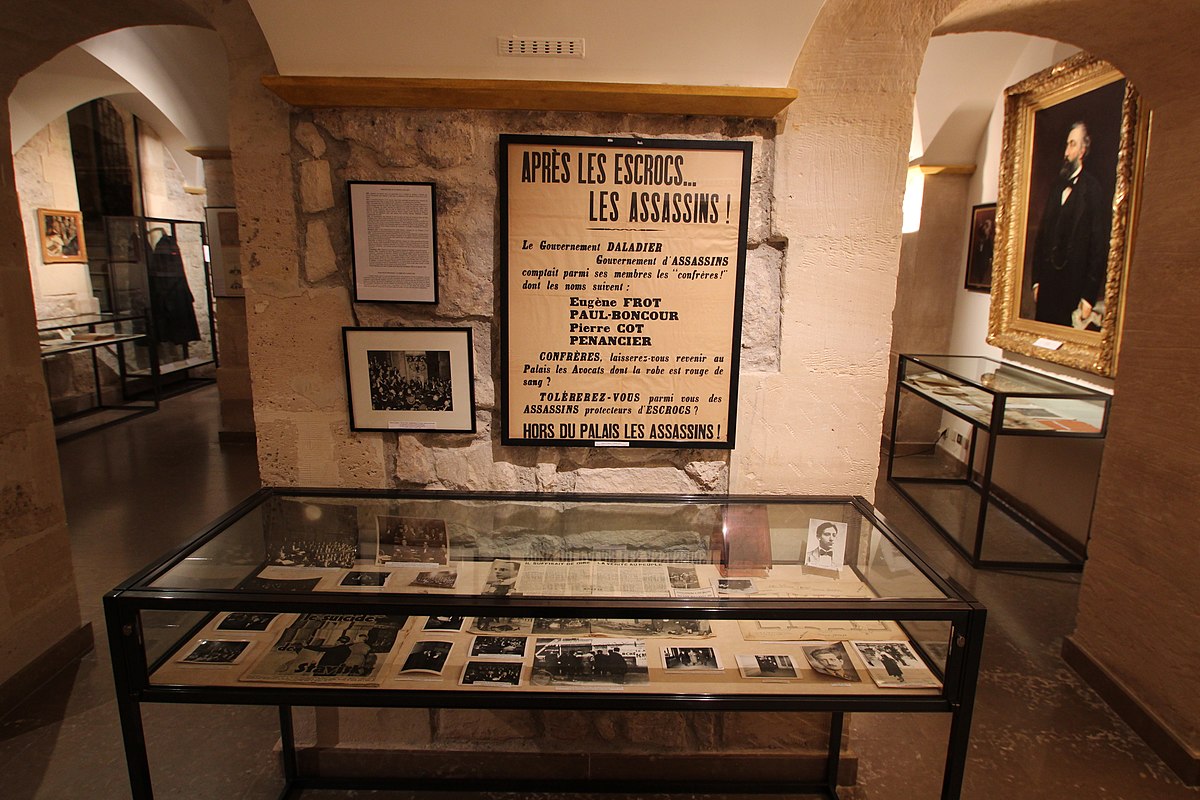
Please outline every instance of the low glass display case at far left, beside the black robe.
[[[152, 339], [148, 330], [149, 321], [145, 314], [140, 313], [76, 314], [72, 317], [47, 318], [37, 321], [37, 339], [42, 349], [43, 362], [78, 353], [86, 353], [91, 359], [94, 404], [79, 413], [56, 416], [55, 422], [67, 422], [83, 415], [101, 411], [112, 413], [100, 425], [72, 431], [64, 429], [58, 437], [60, 441], [88, 431], [107, 427], [115, 422], [124, 422], [125, 420], [157, 410], [160, 399], [158, 365], [154, 357], [154, 348], [149, 345]], [[130, 380], [132, 371], [130, 368], [130, 359], [125, 351], [125, 345], [130, 343], [145, 345], [144, 349], [148, 354], [148, 372], [145, 377], [149, 380], [150, 401], [133, 401], [131, 397]], [[106, 368], [110, 368], [112, 373], [115, 374], [113, 386], [106, 386], [101, 369], [102, 360], [106, 361]], [[115, 389], [120, 393], [119, 402], [106, 402], [106, 389]]]

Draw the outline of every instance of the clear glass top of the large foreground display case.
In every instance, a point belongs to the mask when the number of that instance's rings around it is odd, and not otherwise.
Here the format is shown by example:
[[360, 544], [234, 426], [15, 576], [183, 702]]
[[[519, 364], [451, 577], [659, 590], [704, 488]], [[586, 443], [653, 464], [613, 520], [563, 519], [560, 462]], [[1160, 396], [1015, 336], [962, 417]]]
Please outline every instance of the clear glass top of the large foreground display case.
[[264, 492], [128, 589], [238, 595], [931, 599], [862, 500]]

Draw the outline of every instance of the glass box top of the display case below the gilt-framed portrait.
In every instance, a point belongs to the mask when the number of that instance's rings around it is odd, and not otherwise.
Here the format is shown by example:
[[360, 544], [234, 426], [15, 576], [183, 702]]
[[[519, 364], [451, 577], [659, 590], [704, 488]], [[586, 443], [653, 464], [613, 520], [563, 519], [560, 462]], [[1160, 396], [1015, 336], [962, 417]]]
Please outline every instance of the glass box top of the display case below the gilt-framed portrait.
[[994, 359], [901, 355], [900, 371], [902, 386], [994, 433], [1102, 437], [1108, 423], [1105, 392]]

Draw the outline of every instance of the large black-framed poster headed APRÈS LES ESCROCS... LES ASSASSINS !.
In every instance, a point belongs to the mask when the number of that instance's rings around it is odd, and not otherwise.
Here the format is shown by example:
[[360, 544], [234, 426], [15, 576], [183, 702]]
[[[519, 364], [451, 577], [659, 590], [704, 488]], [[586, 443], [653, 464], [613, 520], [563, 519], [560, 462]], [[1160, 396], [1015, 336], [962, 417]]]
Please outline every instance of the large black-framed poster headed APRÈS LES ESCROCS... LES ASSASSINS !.
[[733, 447], [750, 161], [500, 137], [505, 445]]

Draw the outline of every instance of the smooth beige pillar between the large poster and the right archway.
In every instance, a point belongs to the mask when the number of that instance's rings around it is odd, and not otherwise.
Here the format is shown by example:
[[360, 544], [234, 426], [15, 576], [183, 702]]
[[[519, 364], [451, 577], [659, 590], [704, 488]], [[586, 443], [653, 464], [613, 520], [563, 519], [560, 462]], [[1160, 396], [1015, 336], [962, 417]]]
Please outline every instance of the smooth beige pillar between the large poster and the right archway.
[[743, 377], [736, 492], [874, 497], [912, 98], [947, 5], [830, 0], [804, 43], [775, 169], [780, 371]]

